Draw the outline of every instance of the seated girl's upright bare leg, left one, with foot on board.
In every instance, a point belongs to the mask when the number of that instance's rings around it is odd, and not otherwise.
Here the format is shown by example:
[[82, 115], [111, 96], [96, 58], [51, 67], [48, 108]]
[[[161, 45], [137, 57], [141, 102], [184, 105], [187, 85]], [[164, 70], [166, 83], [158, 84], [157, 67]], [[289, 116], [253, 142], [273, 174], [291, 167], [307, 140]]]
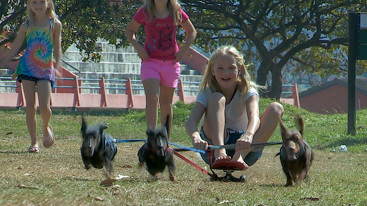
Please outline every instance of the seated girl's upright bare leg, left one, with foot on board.
[[[227, 137], [225, 132], [225, 103], [226, 98], [222, 93], [214, 92], [209, 98], [204, 117], [203, 130], [207, 139], [214, 145], [224, 145]], [[230, 160], [225, 149], [214, 150], [215, 161]]]

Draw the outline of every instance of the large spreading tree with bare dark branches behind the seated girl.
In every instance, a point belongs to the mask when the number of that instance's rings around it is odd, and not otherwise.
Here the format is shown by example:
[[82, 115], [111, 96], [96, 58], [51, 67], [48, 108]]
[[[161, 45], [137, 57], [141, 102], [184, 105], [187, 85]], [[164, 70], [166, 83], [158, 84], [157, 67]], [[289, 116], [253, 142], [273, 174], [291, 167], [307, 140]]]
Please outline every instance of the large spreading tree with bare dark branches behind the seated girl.
[[[348, 11], [363, 11], [359, 0], [181, 0], [207, 51], [221, 44], [244, 48], [258, 62], [257, 83], [279, 98], [281, 70], [290, 61], [298, 70], [339, 73], [345, 63]], [[344, 54], [344, 56], [343, 56]], [[341, 58], [342, 57], [342, 58]], [[326, 69], [326, 70], [323, 70]]]

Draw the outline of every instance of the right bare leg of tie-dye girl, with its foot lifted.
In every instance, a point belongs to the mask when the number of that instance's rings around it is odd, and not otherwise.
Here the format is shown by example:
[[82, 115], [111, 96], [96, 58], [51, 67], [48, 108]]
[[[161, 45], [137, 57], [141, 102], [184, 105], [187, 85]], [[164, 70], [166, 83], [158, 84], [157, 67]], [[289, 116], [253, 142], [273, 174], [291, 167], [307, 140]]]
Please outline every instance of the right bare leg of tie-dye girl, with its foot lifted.
[[54, 134], [50, 124], [51, 118], [51, 108], [50, 108], [50, 98], [51, 98], [51, 82], [48, 80], [40, 80], [37, 82], [37, 94], [39, 109], [41, 113], [41, 118], [43, 121], [42, 131], [44, 136], [44, 146], [51, 147], [54, 144]]

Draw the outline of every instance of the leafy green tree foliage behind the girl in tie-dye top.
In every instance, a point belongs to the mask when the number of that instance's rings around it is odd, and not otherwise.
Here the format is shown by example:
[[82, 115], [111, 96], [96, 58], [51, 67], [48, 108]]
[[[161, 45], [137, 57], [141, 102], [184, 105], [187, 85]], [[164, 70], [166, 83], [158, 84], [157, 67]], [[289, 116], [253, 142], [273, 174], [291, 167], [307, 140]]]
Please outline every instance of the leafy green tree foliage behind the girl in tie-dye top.
[[[11, 42], [26, 19], [26, 0], [0, 0], [0, 31], [8, 33], [0, 39], [0, 47]], [[138, 9], [130, 0], [54, 0], [62, 22], [62, 49], [76, 44], [84, 61], [99, 62], [103, 38], [116, 47], [127, 46], [124, 28]], [[25, 49], [23, 44], [21, 51]]]

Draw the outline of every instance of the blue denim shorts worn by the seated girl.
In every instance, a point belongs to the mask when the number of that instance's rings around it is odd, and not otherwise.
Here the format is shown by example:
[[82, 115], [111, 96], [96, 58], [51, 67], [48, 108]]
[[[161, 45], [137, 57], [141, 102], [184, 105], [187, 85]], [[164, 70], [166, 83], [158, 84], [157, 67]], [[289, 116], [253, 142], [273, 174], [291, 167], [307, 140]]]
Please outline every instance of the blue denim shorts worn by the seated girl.
[[[224, 140], [224, 144], [236, 144], [236, 141], [241, 137], [241, 135], [245, 132], [244, 130], [232, 130], [232, 129], [226, 129], [227, 132], [227, 137]], [[201, 127], [201, 131], [200, 131], [200, 137], [201, 139], [205, 140], [208, 142], [208, 144], [213, 144], [213, 142], [211, 140], [208, 140], [204, 134], [203, 128]], [[251, 152], [249, 152], [245, 158], [243, 158], [243, 160], [246, 162], [246, 164], [248, 166], [253, 165], [262, 155], [262, 151], [264, 150], [265, 146], [259, 147], [259, 148], [254, 148], [251, 150]], [[233, 157], [233, 155], [235, 154], [235, 149], [226, 149], [227, 155], [229, 155], [230, 157]], [[200, 153], [201, 158], [203, 158], [204, 162], [206, 162], [208, 165], [210, 165], [209, 163], [209, 157], [208, 157], [208, 153], [202, 154]], [[215, 158], [214, 155], [212, 156], [212, 163], [214, 163]]]

